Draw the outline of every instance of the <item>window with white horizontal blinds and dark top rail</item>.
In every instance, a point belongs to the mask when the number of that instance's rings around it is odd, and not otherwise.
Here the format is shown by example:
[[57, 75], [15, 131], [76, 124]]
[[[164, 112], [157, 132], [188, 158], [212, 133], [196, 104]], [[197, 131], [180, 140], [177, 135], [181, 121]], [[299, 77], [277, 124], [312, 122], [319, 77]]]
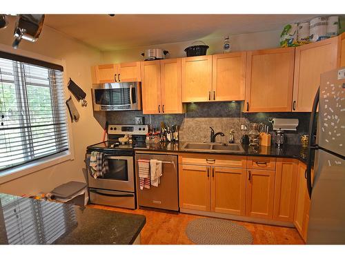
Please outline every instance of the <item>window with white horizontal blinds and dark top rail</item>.
[[0, 52], [1, 171], [68, 150], [63, 68]]

